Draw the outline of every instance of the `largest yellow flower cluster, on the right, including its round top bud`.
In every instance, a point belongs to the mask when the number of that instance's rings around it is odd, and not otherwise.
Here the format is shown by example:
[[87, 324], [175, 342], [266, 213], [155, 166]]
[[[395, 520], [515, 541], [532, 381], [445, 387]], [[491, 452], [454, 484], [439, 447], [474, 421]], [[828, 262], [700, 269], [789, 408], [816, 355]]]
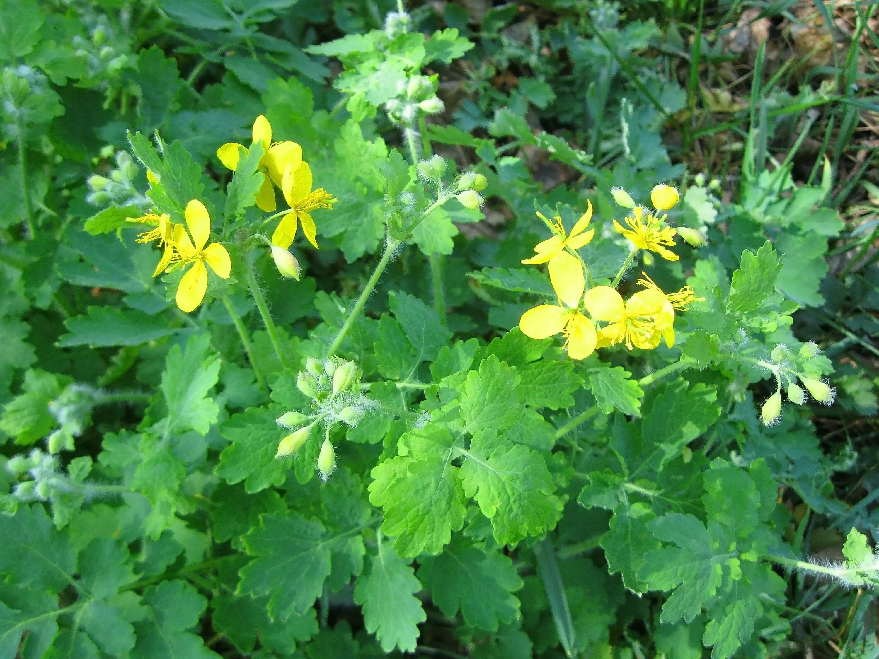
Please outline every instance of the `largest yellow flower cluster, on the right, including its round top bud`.
[[[677, 202], [677, 191], [668, 189], [674, 192], [673, 199], [666, 191], [660, 191], [657, 199], [657, 191], [654, 191], [653, 203], [657, 211], [667, 210]], [[661, 228], [662, 220], [651, 214], [645, 216], [640, 207], [635, 207], [634, 211], [631, 221], [627, 219], [630, 230], [621, 228], [614, 221], [617, 230], [635, 244], [636, 250], [657, 251], [669, 260], [677, 260], [677, 256], [663, 247], [664, 244], [674, 244], [674, 229]], [[672, 347], [675, 309], [686, 311], [696, 300], [690, 286], [677, 293], [665, 294], [642, 273], [644, 279], [638, 279], [637, 283], [643, 286], [643, 290], [628, 300], [623, 300], [613, 286], [594, 286], [585, 290], [585, 263], [577, 250], [592, 240], [594, 230], [585, 230], [592, 219], [592, 203], [570, 235], [565, 232], [561, 218], [549, 221], [538, 215], [554, 235], [534, 248], [536, 256], [522, 263], [549, 264], [549, 279], [558, 304], [541, 304], [522, 315], [519, 328], [527, 337], [541, 339], [561, 333], [565, 337], [564, 347], [574, 359], [584, 359], [596, 348], [615, 344], [625, 344], [629, 350], [649, 350], [665, 341]]]

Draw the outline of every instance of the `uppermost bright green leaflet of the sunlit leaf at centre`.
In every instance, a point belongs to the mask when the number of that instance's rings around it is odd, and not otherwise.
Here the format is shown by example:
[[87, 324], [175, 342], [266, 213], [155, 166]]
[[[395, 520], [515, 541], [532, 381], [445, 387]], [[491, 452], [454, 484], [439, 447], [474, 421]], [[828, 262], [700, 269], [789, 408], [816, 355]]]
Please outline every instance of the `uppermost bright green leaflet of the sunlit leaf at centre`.
[[505, 431], [519, 420], [522, 395], [516, 369], [492, 355], [479, 371], [467, 373], [461, 392], [461, 417], [466, 431]]

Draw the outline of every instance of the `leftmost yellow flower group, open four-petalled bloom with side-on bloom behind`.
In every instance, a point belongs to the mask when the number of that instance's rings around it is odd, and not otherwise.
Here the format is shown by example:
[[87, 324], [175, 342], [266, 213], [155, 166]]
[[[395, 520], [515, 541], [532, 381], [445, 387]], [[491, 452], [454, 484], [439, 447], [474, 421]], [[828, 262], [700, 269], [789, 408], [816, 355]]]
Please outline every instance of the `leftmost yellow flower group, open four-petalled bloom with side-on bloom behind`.
[[[207, 267], [218, 277], [229, 279], [232, 262], [229, 252], [220, 243], [207, 244], [211, 235], [211, 217], [198, 199], [186, 204], [186, 226], [175, 224], [167, 214], [148, 214], [129, 221], [152, 224], [155, 228], [137, 236], [138, 243], [159, 241], [164, 254], [156, 266], [156, 277], [163, 270], [171, 272], [192, 265], [180, 279], [177, 289], [177, 306], [185, 312], [193, 311], [204, 300], [207, 292]], [[186, 232], [189, 228], [189, 232]], [[207, 246], [206, 246], [207, 245]]]

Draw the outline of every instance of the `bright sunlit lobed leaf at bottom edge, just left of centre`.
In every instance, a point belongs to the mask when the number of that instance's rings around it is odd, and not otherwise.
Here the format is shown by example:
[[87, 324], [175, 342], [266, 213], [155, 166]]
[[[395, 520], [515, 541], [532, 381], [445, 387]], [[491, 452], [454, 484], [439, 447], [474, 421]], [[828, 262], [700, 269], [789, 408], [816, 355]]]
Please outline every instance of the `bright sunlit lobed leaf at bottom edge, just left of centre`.
[[394, 648], [415, 651], [418, 623], [427, 619], [415, 597], [418, 590], [421, 583], [410, 564], [396, 554], [389, 542], [380, 542], [369, 567], [357, 579], [354, 603], [363, 606], [367, 632], [375, 634], [385, 652]]

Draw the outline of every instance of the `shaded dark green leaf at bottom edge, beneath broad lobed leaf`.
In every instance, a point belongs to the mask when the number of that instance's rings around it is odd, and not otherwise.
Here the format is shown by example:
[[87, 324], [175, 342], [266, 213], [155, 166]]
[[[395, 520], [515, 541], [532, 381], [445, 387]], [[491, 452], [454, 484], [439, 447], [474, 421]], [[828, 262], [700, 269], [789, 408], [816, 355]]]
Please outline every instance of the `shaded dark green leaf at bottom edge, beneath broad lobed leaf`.
[[259, 639], [263, 648], [290, 655], [296, 649], [296, 641], [308, 641], [317, 634], [314, 609], [301, 616], [293, 614], [280, 620], [269, 618], [267, 605], [268, 597], [238, 597], [222, 593], [211, 602], [214, 609], [211, 623], [244, 654], [251, 653]]

